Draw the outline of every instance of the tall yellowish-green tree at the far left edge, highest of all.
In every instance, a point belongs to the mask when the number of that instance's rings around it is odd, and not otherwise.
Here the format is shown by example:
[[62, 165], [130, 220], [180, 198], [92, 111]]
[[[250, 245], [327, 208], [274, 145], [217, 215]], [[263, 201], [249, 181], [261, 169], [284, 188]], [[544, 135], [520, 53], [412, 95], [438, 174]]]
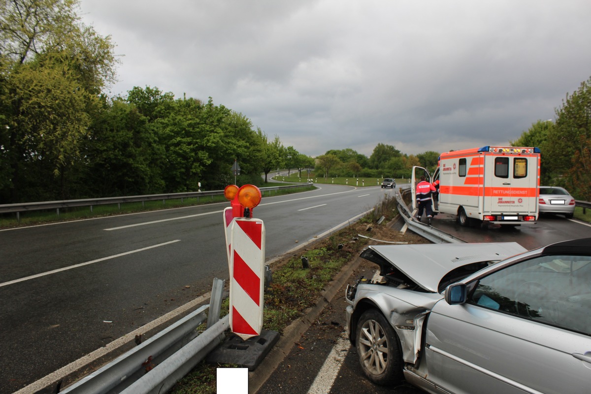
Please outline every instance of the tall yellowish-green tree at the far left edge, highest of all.
[[98, 94], [115, 80], [110, 38], [81, 24], [76, 6], [0, 2], [5, 200], [69, 197]]

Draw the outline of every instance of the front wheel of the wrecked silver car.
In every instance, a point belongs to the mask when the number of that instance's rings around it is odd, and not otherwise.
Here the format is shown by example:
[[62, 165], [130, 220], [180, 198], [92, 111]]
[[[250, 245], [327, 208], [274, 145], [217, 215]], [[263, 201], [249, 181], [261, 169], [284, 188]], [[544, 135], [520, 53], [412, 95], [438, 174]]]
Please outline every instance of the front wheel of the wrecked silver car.
[[355, 343], [363, 373], [378, 385], [400, 383], [402, 355], [394, 328], [378, 310], [363, 312], [357, 324]]

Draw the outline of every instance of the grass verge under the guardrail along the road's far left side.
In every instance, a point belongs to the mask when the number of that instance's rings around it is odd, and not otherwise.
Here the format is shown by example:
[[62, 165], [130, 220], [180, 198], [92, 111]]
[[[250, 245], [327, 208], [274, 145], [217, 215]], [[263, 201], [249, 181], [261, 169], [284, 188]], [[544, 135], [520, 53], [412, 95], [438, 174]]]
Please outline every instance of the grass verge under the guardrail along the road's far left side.
[[[277, 186], [277, 183], [267, 183], [263, 187]], [[283, 194], [301, 193], [302, 191], [313, 190], [313, 186], [298, 187], [288, 190], [262, 190], [262, 197], [281, 196]], [[137, 213], [143, 211], [154, 211], [160, 209], [180, 208], [197, 206], [212, 203], [228, 203], [224, 196], [205, 196], [177, 198], [170, 200], [144, 201], [137, 203], [105, 204], [92, 207], [74, 207], [69, 209], [27, 211], [7, 213], [0, 215], [0, 228], [31, 226], [34, 224], [45, 224], [54, 222], [65, 222], [68, 220], [89, 219], [92, 217], [112, 216], [125, 213]]]

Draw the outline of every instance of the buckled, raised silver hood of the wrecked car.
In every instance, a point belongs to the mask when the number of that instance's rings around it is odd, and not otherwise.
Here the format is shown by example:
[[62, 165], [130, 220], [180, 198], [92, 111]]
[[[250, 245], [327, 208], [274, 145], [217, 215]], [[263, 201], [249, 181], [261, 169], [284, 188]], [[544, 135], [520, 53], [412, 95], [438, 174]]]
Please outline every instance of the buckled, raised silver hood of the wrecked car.
[[517, 242], [373, 245], [361, 257], [378, 264], [380, 275], [394, 285], [412, 282], [424, 291], [441, 292], [447, 281], [526, 251]]

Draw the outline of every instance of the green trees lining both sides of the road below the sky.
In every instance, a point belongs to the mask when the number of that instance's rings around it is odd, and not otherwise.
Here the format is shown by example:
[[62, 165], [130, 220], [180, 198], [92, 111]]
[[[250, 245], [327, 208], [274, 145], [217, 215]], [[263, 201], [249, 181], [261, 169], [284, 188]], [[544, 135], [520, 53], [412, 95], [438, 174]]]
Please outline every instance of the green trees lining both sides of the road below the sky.
[[[316, 177], [408, 177], [439, 152], [372, 154], [285, 147], [242, 113], [157, 87], [109, 97], [118, 60], [110, 36], [77, 15], [77, 0], [0, 1], [0, 204], [219, 190], [261, 185], [278, 168]], [[538, 146], [545, 184], [591, 199], [591, 80], [566, 97], [556, 122], [538, 121], [513, 145]], [[261, 177], [264, 174], [264, 180]]]

